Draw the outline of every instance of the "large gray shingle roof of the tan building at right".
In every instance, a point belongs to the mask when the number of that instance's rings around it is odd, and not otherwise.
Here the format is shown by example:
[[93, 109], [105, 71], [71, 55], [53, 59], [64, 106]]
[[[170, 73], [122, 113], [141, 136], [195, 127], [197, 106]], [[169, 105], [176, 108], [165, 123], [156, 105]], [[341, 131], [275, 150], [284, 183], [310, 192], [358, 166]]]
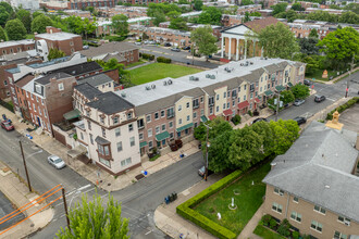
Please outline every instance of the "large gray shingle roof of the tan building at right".
[[357, 158], [352, 141], [312, 122], [285, 154], [275, 158], [263, 183], [359, 222], [359, 177], [351, 175]]

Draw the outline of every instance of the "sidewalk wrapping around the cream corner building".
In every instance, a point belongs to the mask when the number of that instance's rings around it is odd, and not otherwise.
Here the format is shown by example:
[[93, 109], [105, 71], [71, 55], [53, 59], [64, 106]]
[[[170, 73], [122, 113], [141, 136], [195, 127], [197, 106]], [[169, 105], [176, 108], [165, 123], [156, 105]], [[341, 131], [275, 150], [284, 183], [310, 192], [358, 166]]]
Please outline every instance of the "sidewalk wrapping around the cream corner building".
[[[5, 108], [0, 106], [0, 115], [5, 114], [8, 118], [13, 122], [15, 129], [25, 136], [28, 134], [26, 128], [34, 128], [32, 125], [26, 125], [26, 123], [21, 123], [20, 118], [12, 112], [8, 111]], [[135, 176], [141, 174], [141, 171], [147, 171], [148, 174], [153, 174], [158, 171], [163, 169], [164, 167], [172, 165], [182, 159], [180, 159], [180, 154], [184, 153], [186, 156], [197, 153], [200, 150], [198, 149], [197, 141], [190, 141], [188, 143], [184, 143], [181, 150], [175, 152], [170, 152], [165, 155], [160, 156], [153, 162], [143, 161], [141, 166], [136, 167], [123, 175], [114, 177], [113, 175], [100, 169], [95, 164], [84, 164], [79, 160], [69, 159], [67, 151], [69, 148], [63, 146], [61, 142], [55, 140], [54, 138], [46, 135], [45, 133], [37, 134], [36, 131], [32, 131], [33, 136], [32, 141], [48, 151], [50, 154], [55, 154], [63, 159], [67, 166], [73, 168], [79, 175], [85, 177], [87, 180], [91, 181], [94, 185], [98, 183], [98, 187], [107, 190], [107, 191], [116, 191], [123, 189], [135, 181]], [[185, 159], [185, 158], [183, 158]]]

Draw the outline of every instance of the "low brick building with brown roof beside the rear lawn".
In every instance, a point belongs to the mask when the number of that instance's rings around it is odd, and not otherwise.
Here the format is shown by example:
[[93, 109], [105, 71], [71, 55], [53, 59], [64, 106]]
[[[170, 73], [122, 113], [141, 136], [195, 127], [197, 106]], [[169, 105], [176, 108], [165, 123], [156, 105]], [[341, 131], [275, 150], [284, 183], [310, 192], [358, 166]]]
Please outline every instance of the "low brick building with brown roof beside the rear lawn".
[[113, 41], [103, 43], [97, 48], [83, 50], [81, 54], [85, 55], [87, 59], [102, 60], [104, 62], [114, 58], [119, 63], [128, 65], [138, 62], [139, 48], [133, 43]]

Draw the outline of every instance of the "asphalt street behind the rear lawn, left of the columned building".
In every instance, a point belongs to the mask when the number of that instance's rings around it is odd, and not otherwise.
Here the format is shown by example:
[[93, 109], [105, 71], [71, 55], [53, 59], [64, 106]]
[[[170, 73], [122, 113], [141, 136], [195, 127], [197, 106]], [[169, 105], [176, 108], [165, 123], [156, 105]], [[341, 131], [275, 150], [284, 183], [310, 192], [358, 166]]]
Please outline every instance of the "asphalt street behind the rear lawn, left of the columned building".
[[154, 54], [156, 56], [164, 56], [169, 58], [172, 61], [175, 62], [181, 62], [181, 63], [190, 63], [194, 65], [202, 66], [202, 67], [208, 67], [208, 68], [215, 68], [219, 66], [219, 64], [214, 64], [211, 62], [206, 62], [206, 61], [193, 61], [191, 59], [187, 59], [187, 55], [190, 55], [190, 52], [187, 50], [181, 50], [180, 52], [171, 51], [170, 48], [163, 48], [163, 47], [157, 47], [153, 45], [141, 45], [139, 46], [140, 49], [139, 51], [141, 53], [148, 53], [148, 54]]

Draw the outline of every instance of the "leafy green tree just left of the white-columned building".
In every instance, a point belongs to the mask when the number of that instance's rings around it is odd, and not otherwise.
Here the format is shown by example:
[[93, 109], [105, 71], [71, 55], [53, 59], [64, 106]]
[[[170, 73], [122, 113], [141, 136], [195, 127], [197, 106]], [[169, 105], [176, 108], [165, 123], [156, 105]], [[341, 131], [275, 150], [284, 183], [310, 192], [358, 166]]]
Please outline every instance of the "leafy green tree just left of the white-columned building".
[[214, 37], [212, 33], [213, 30], [210, 26], [198, 27], [190, 33], [190, 39], [196, 45], [196, 48], [200, 54], [208, 56], [218, 51], [215, 43], [216, 37]]

